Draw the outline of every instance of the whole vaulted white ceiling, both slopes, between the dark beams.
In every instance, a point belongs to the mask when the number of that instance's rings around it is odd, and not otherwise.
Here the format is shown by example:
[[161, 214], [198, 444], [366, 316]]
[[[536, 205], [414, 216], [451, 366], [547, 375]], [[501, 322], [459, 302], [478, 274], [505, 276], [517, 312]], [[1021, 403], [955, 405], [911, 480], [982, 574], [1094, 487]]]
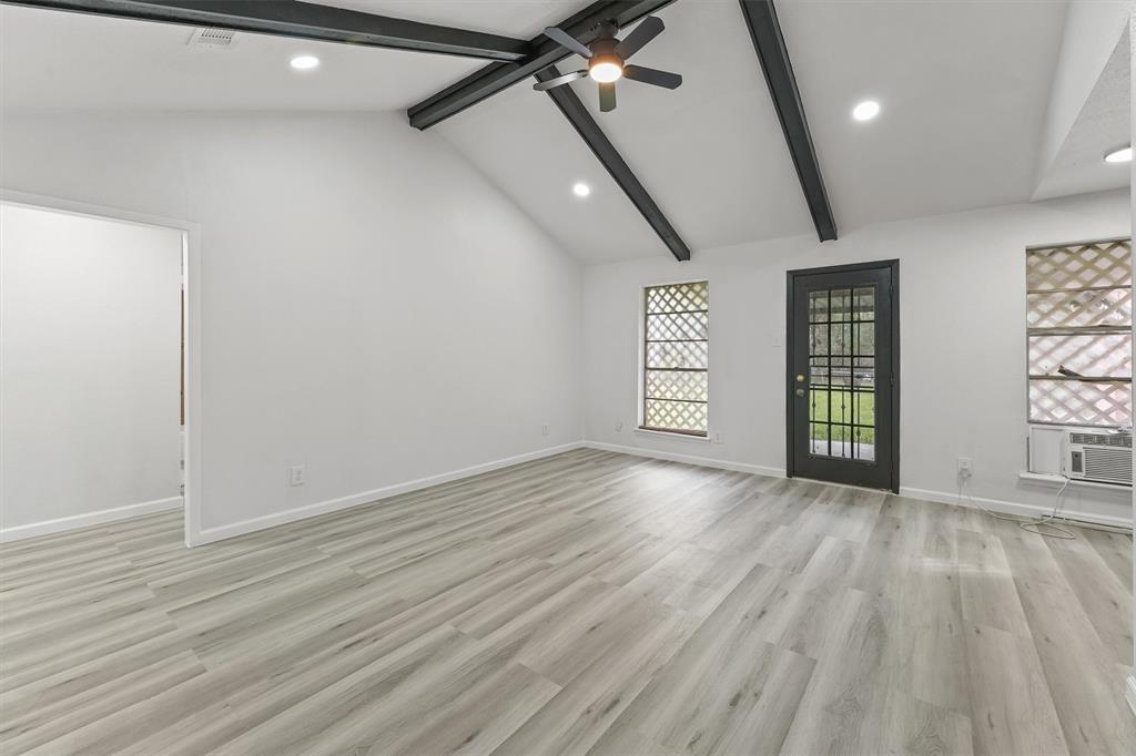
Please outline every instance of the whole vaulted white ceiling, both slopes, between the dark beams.
[[[318, 1], [525, 39], [587, 5]], [[1066, 2], [778, 0], [777, 9], [841, 232], [1034, 195]], [[620, 82], [619, 107], [610, 114], [599, 112], [590, 79], [573, 89], [695, 254], [812, 234], [737, 1], [678, 0], [659, 16], [667, 31], [635, 62], [683, 74], [680, 89]], [[401, 110], [484, 65], [254, 34], [239, 34], [231, 50], [202, 50], [185, 44], [190, 32], [5, 6], [0, 106]], [[323, 65], [291, 70], [287, 59], [299, 52], [318, 54]], [[1124, 62], [1120, 52], [1116, 58]], [[570, 58], [560, 68], [580, 64]], [[1092, 161], [1077, 158], [1099, 151], [1096, 142], [1118, 129], [1127, 133], [1127, 101], [1124, 109], [1106, 107], [1122, 89], [1117, 81], [1102, 76], [1097, 106], [1086, 104], [1084, 116], [1095, 131], [1081, 129], [1054, 163], [1055, 178], [1046, 178], [1056, 194], [1118, 185], [1116, 173], [1088, 170], [1085, 161]], [[883, 111], [859, 124], [850, 110], [864, 98], [879, 100]], [[580, 259], [669, 254], [529, 82], [431, 133], [454, 144]], [[1063, 178], [1062, 160], [1080, 174]], [[571, 193], [577, 180], [593, 187], [586, 200]]]

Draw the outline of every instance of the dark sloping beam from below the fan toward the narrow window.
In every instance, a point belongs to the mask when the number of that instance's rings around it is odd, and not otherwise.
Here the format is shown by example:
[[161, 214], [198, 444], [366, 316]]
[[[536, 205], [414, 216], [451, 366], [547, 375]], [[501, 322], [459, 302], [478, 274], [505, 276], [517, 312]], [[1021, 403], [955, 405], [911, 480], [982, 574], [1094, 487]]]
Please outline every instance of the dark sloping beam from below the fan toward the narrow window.
[[[556, 66], [550, 66], [544, 70], [536, 73], [536, 78], [542, 82], [546, 82], [550, 78], [556, 78], [560, 75]], [[576, 133], [583, 137], [587, 146], [591, 148], [595, 157], [600, 159], [603, 167], [608, 169], [611, 177], [616, 179], [619, 184], [619, 188], [624, 191], [627, 199], [632, 201], [632, 204], [643, 213], [643, 217], [654, 233], [659, 235], [662, 243], [667, 245], [670, 253], [675, 255], [675, 259], [679, 262], [691, 259], [691, 250], [683, 242], [682, 237], [678, 236], [678, 232], [675, 227], [670, 225], [667, 217], [662, 215], [662, 210], [659, 205], [654, 203], [651, 195], [648, 194], [646, 188], [640, 183], [640, 179], [632, 171], [630, 167], [623, 159], [619, 152], [616, 150], [615, 145], [607, 137], [600, 125], [595, 123], [592, 118], [592, 114], [587, 111], [584, 103], [579, 101], [576, 93], [573, 92], [570, 86], [557, 86], [545, 92], [552, 101], [557, 103], [560, 108], [560, 112], [568, 118], [568, 121], [576, 129]]]

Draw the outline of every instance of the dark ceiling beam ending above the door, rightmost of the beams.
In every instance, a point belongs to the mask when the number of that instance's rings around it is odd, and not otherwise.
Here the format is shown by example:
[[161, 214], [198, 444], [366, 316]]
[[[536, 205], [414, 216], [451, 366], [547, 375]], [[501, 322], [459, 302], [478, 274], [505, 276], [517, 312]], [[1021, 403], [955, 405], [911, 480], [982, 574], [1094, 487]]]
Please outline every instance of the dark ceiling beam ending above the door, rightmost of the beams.
[[785, 132], [790, 154], [793, 156], [793, 165], [796, 166], [796, 175], [801, 179], [804, 200], [817, 227], [817, 236], [821, 242], [835, 240], [836, 220], [828, 204], [825, 182], [820, 177], [820, 162], [809, 134], [809, 121], [804, 117], [804, 104], [801, 102], [801, 92], [796, 89], [796, 77], [785, 48], [785, 37], [782, 36], [777, 11], [772, 0], [740, 1], [745, 24], [750, 27], [753, 49], [758, 52], [766, 84], [769, 85], [769, 95], [774, 100], [782, 131]]

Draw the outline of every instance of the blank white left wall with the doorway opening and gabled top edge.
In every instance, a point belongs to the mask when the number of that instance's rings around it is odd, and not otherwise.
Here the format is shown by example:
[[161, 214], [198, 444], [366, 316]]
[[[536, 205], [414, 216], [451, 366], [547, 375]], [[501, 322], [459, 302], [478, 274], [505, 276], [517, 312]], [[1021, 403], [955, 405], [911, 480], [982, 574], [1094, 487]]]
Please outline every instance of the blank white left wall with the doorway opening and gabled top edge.
[[578, 263], [401, 115], [7, 112], [0, 167], [200, 224], [203, 539], [580, 438]]

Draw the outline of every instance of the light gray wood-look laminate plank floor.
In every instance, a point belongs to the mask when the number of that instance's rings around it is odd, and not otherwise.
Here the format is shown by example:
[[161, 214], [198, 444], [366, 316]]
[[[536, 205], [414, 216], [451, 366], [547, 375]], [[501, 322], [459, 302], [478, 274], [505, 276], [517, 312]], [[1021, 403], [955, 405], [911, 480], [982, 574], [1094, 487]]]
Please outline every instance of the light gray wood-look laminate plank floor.
[[1131, 539], [577, 451], [2, 548], [0, 753], [1124, 754]]

